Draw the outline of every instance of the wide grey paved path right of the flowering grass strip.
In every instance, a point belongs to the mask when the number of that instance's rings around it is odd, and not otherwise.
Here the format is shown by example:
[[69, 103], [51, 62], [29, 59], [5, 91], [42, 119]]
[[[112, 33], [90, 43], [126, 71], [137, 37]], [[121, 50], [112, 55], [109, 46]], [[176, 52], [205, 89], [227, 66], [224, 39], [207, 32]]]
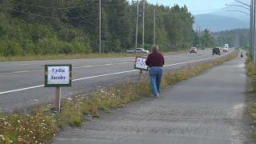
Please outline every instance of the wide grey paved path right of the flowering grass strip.
[[62, 144], [253, 143], [244, 115], [245, 59], [236, 58], [123, 109], [60, 132]]

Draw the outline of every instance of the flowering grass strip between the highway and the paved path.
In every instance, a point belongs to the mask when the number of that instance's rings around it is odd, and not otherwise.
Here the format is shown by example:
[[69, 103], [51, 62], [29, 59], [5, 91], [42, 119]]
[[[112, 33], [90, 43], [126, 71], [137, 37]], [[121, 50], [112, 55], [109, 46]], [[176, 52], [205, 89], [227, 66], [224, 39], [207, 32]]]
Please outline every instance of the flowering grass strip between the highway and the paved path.
[[[233, 52], [212, 62], [187, 66], [168, 72], [162, 79], [162, 88], [201, 74], [205, 70], [237, 57]], [[98, 87], [92, 94], [66, 98], [62, 113], [56, 113], [51, 105], [35, 106], [30, 114], [0, 114], [0, 143], [50, 142], [54, 134], [65, 126], [82, 126], [88, 118], [100, 117], [100, 112], [126, 106], [142, 96], [150, 95], [148, 79], [137, 83], [123, 83], [110, 89]]]

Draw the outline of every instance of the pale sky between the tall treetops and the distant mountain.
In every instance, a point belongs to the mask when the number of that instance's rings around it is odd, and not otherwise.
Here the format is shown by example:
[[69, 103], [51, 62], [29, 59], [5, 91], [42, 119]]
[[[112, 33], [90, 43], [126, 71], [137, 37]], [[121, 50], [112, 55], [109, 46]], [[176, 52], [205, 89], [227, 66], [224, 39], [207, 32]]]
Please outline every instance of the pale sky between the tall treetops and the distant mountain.
[[165, 6], [186, 5], [192, 14], [207, 14], [225, 7], [225, 4], [230, 4], [234, 0], [147, 0], [150, 3], [156, 3]]

